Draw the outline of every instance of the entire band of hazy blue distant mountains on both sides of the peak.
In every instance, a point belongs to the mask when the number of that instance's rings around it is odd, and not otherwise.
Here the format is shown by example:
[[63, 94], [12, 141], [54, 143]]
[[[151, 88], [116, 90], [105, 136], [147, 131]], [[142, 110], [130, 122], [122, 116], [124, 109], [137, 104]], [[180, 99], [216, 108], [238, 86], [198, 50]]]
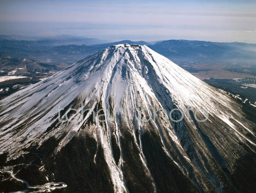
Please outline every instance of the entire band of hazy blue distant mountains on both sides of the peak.
[[[4, 39], [6, 38], [6, 39]], [[44, 63], [72, 64], [111, 45], [122, 43], [148, 45], [152, 50], [175, 61], [243, 62], [253, 65], [256, 62], [256, 44], [216, 43], [207, 41], [167, 40], [152, 42], [124, 40], [103, 43], [93, 38], [61, 36], [58, 39], [14, 40], [0, 36], [0, 56], [26, 57]], [[101, 44], [98, 44], [101, 42]], [[92, 45], [94, 44], [94, 45]]]

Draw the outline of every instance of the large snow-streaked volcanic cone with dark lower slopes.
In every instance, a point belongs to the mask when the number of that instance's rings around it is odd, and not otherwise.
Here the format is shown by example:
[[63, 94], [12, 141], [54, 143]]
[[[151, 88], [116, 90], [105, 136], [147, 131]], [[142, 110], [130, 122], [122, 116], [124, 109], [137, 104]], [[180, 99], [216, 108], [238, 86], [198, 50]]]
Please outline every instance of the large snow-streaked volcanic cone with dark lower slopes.
[[4, 98], [0, 122], [0, 191], [255, 189], [242, 102], [145, 45], [110, 46]]

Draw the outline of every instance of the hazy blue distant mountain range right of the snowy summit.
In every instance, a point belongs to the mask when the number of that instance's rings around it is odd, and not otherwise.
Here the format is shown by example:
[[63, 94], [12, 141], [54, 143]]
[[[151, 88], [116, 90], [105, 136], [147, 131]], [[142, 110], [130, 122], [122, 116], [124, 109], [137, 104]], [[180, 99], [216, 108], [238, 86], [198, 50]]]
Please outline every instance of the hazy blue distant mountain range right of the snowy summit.
[[167, 40], [149, 47], [172, 60], [256, 62], [256, 44]]

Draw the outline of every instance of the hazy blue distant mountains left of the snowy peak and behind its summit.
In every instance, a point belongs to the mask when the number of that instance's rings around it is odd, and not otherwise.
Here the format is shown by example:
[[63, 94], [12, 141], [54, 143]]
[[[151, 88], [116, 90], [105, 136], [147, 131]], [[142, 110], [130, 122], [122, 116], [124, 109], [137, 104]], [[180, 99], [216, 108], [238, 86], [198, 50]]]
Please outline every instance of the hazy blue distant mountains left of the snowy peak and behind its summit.
[[71, 44], [53, 45], [52, 41], [24, 41], [24, 40], [0, 40], [0, 56], [25, 57], [49, 64], [73, 64], [77, 60], [94, 54], [99, 50], [105, 49], [110, 45], [119, 43], [139, 43], [146, 44], [144, 41], [121, 41], [98, 45]]

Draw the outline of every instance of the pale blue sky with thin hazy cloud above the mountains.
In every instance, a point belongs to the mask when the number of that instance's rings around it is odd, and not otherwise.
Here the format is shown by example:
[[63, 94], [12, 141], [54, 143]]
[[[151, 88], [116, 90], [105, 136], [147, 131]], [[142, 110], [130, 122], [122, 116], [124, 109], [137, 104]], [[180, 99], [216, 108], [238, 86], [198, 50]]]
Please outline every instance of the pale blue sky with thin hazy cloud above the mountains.
[[1, 0], [0, 34], [256, 43], [256, 1]]

